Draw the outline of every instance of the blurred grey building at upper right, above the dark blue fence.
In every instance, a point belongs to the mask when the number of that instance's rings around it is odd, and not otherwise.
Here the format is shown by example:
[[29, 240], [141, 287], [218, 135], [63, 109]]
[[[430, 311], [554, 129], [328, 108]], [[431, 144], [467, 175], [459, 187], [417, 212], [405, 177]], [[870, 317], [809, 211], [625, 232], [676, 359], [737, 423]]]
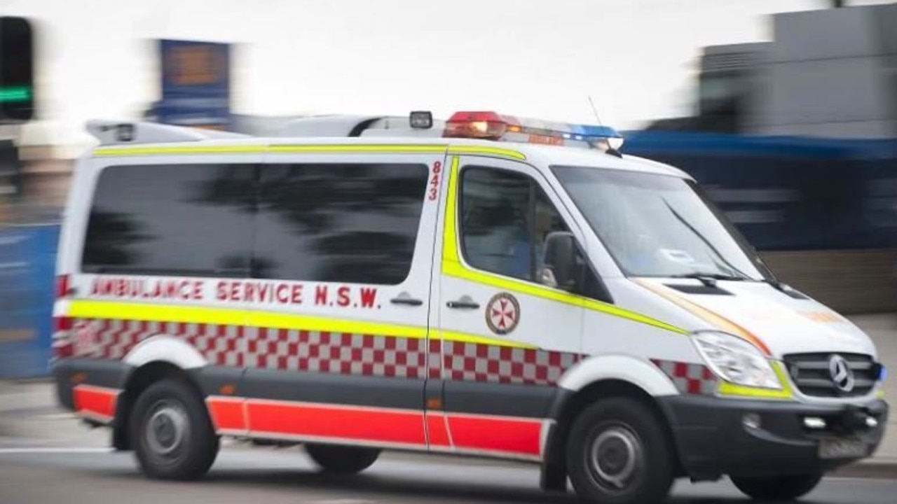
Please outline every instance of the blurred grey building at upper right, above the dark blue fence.
[[693, 117], [649, 129], [897, 137], [897, 4], [771, 16], [772, 41], [703, 48]]

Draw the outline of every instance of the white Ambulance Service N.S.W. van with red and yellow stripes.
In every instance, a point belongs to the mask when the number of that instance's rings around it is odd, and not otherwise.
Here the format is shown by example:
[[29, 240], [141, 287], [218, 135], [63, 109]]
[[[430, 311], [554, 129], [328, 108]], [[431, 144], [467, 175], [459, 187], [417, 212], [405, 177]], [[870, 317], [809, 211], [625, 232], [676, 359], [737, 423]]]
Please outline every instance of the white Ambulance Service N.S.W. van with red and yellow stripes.
[[595, 503], [724, 476], [791, 500], [883, 438], [867, 335], [609, 127], [88, 129], [59, 245], [58, 399], [149, 477], [199, 478], [236, 438], [339, 474], [384, 450], [524, 461]]

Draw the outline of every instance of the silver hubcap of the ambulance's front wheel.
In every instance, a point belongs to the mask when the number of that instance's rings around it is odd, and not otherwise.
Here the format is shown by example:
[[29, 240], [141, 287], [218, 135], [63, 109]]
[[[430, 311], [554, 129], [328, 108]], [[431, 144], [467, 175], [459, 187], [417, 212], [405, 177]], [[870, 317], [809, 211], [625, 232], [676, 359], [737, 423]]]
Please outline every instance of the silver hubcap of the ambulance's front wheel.
[[589, 462], [602, 486], [623, 490], [637, 473], [641, 459], [641, 444], [635, 434], [623, 427], [612, 427], [592, 443]]

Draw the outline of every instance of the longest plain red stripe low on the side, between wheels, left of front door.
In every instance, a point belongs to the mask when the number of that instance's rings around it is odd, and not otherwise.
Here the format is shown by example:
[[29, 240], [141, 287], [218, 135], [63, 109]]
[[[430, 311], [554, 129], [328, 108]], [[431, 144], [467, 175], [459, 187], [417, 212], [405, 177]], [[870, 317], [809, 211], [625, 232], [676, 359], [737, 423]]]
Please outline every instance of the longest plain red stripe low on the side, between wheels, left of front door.
[[426, 445], [423, 413], [248, 401], [252, 432]]

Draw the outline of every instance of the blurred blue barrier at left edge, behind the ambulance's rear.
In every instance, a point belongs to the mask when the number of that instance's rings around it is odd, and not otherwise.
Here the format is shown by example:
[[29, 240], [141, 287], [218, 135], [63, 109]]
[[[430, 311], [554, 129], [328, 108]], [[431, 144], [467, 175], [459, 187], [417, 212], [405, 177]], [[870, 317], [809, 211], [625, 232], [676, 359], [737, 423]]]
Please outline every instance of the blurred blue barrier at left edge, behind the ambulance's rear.
[[0, 378], [48, 374], [59, 227], [0, 229]]

